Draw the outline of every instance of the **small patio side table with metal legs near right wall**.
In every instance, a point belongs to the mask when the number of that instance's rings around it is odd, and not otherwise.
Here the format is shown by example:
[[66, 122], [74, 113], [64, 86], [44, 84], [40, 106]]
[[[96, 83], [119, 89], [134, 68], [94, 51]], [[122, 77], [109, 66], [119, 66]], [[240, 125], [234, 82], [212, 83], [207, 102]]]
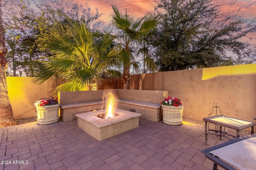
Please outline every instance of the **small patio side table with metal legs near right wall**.
[[216, 133], [216, 135], [220, 136], [220, 139], [221, 139], [221, 136], [223, 136], [222, 126], [228, 127], [230, 129], [235, 129], [236, 130], [236, 138], [238, 138], [240, 130], [243, 130], [243, 129], [246, 129], [246, 128], [249, 128], [249, 127], [251, 128], [251, 134], [253, 134], [254, 133], [254, 126], [256, 125], [256, 123], [252, 122], [252, 121], [236, 119], [236, 118], [233, 118], [233, 117], [228, 117], [228, 116], [223, 116], [223, 115], [205, 117], [205, 118], [203, 118], [203, 120], [205, 121], [205, 132], [204, 132], [204, 134], [205, 134], [205, 145], [208, 145], [207, 135], [210, 134], [208, 132], [209, 131], [208, 122], [214, 123], [215, 125], [220, 126], [219, 134]]

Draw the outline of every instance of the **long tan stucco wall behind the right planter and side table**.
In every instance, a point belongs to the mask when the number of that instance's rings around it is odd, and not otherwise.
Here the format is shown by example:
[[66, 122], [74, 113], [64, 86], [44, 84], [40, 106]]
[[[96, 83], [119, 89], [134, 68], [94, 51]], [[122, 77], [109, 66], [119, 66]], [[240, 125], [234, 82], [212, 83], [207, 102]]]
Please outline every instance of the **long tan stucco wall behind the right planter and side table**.
[[256, 64], [131, 75], [130, 88], [167, 90], [184, 102], [184, 117], [196, 120], [207, 117], [214, 102], [226, 116], [256, 117]]

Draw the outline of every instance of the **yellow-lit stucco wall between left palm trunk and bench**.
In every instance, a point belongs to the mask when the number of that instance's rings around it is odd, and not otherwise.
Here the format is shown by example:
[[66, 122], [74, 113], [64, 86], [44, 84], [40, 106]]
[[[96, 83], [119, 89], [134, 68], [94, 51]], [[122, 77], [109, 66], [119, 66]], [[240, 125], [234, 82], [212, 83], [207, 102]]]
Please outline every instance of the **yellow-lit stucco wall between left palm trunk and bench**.
[[7, 77], [7, 86], [14, 119], [35, 116], [34, 103], [46, 97], [51, 97], [54, 82], [46, 81], [36, 85], [30, 77]]

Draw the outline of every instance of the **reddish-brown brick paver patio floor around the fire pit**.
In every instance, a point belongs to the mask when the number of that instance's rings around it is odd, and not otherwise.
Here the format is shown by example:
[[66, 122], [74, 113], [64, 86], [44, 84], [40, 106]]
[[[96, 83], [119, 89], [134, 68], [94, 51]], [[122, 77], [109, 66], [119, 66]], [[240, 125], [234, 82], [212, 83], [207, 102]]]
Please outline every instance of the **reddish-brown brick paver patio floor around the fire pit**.
[[206, 170], [213, 162], [200, 151], [227, 141], [208, 135], [206, 146], [204, 126], [141, 118], [139, 127], [100, 142], [77, 120], [0, 128], [0, 137], [0, 170]]

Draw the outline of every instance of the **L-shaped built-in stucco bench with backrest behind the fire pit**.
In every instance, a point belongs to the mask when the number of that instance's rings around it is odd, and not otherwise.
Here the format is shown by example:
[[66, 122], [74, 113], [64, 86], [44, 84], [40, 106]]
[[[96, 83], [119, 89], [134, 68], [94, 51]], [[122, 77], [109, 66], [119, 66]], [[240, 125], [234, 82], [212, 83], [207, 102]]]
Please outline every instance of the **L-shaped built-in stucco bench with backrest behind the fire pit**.
[[[59, 92], [60, 118], [62, 121], [76, 119], [76, 114], [104, 109], [102, 96], [108, 90]], [[160, 102], [167, 97], [167, 91], [114, 89], [117, 108], [141, 114], [141, 118], [161, 121]]]

